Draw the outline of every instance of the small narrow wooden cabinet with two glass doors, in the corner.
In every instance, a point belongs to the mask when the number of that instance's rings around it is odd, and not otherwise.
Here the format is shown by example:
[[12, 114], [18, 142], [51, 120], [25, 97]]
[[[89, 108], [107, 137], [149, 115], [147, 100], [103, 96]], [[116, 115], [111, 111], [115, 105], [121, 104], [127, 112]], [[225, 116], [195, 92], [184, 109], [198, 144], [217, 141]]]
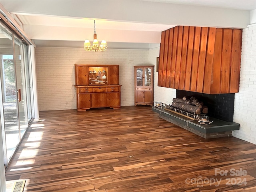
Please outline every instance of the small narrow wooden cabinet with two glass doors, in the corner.
[[135, 106], [151, 105], [154, 100], [154, 66], [134, 66]]

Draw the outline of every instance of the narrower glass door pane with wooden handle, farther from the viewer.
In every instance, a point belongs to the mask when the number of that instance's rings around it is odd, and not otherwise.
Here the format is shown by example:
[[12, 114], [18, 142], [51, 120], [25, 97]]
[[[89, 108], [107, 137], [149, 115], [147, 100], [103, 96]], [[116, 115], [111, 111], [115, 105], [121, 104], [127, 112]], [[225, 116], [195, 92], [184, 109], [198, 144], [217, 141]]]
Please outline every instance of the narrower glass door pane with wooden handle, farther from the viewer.
[[26, 84], [24, 77], [24, 65], [22, 54], [22, 41], [14, 36], [14, 54], [16, 67], [16, 84], [18, 90], [18, 113], [20, 121], [20, 136], [22, 137], [28, 127], [27, 105], [26, 105]]

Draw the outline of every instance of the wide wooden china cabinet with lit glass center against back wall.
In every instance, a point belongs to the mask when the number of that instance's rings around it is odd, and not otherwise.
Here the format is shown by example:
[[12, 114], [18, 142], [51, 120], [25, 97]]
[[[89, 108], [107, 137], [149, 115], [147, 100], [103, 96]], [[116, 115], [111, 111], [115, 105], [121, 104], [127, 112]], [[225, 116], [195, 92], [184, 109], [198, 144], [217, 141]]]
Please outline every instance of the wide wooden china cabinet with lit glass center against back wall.
[[120, 108], [119, 65], [75, 64], [75, 73], [78, 111]]

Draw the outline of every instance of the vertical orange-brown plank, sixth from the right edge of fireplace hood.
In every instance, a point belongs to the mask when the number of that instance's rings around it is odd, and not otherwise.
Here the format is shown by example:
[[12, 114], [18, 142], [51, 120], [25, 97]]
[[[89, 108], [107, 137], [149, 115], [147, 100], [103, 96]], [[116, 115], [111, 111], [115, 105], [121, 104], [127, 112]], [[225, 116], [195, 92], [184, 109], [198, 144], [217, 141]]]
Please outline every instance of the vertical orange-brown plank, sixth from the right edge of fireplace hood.
[[193, 51], [193, 60], [192, 60], [191, 82], [190, 82], [190, 91], [193, 91], [193, 92], [196, 91], [196, 78], [197, 78], [197, 70], [198, 70], [200, 39], [201, 39], [201, 27], [196, 27], [195, 36], [194, 36], [194, 51]]

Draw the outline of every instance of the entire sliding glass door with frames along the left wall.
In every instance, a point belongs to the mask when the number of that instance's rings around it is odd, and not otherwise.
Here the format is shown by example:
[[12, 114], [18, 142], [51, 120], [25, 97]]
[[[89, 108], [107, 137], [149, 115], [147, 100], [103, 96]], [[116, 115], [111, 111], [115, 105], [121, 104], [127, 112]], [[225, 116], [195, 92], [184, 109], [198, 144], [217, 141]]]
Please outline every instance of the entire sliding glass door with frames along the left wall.
[[32, 119], [28, 52], [28, 45], [0, 23], [0, 115], [5, 165]]

